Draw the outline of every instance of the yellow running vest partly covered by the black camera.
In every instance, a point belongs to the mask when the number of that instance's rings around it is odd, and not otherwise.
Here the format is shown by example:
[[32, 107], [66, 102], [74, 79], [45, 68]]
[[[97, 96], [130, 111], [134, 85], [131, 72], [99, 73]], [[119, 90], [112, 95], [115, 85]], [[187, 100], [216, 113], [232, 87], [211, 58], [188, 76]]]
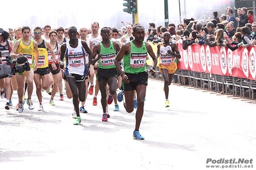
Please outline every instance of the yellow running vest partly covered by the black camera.
[[19, 39], [19, 47], [17, 49], [17, 54], [23, 54], [26, 58], [28, 58], [28, 63], [33, 65], [35, 62], [35, 49], [34, 49], [34, 40], [30, 40], [29, 45], [25, 45], [23, 43], [23, 38]]

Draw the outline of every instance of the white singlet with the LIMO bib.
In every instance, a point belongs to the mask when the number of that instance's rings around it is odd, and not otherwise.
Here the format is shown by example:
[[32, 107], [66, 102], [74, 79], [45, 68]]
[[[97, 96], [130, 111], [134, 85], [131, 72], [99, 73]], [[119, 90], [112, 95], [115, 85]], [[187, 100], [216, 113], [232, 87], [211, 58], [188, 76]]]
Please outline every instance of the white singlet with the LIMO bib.
[[65, 59], [67, 61], [65, 67], [65, 74], [78, 74], [86, 75], [85, 65], [85, 50], [81, 44], [81, 40], [78, 39], [78, 47], [73, 48], [69, 45], [69, 41], [66, 42], [67, 49], [65, 50]]

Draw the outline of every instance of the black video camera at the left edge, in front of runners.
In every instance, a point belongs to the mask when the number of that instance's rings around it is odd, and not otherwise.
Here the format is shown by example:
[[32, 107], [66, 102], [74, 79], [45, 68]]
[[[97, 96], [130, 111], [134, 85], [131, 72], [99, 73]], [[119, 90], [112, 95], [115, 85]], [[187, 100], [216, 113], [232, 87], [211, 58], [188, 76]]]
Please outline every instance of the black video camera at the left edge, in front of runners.
[[20, 56], [17, 60], [12, 60], [11, 56], [6, 56], [6, 59], [2, 61], [6, 61], [6, 64], [0, 64], [0, 79], [30, 70], [30, 63], [25, 56]]

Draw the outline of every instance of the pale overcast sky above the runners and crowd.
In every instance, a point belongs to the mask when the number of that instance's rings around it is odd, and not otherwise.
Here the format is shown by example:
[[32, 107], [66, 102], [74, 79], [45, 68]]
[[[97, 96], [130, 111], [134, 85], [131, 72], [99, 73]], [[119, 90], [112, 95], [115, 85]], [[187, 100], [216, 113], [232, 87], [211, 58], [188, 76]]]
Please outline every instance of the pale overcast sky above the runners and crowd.
[[[184, 1], [181, 2], [182, 15], [184, 15]], [[201, 0], [185, 1], [187, 8], [192, 9], [192, 4]], [[218, 0], [220, 1], [220, 0]], [[123, 12], [122, 0], [92, 0], [92, 1], [18, 1], [12, 0], [12, 8], [6, 6], [1, 9], [0, 27], [35, 26], [44, 27], [49, 24], [52, 29], [58, 26], [90, 27], [94, 21], [99, 22], [100, 27], [110, 26], [121, 28], [121, 21], [131, 22], [132, 15]], [[178, 0], [169, 0], [169, 22], [179, 24], [180, 15]], [[164, 26], [164, 0], [138, 0], [139, 23], [148, 27], [149, 22], [155, 22], [156, 26]], [[189, 9], [186, 9], [189, 11]], [[185, 15], [184, 15], [185, 16]], [[184, 18], [182, 16], [182, 20]]]

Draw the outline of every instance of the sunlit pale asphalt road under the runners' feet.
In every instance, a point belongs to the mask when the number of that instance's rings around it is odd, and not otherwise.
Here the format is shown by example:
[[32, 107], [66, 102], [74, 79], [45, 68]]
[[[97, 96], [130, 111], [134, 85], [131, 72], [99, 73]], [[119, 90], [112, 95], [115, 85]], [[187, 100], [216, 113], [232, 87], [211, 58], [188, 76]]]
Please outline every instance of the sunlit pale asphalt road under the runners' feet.
[[[37, 111], [35, 93], [35, 109], [25, 104], [21, 114], [15, 106], [6, 111], [0, 99], [0, 169], [200, 170], [235, 165], [206, 164], [207, 158], [255, 160], [255, 102], [172, 84], [166, 108], [163, 84], [149, 79], [140, 128], [144, 141], [133, 139], [136, 109], [128, 114], [119, 103], [120, 111], [114, 112], [113, 102], [110, 118], [101, 121], [100, 93], [97, 106], [88, 96], [81, 125], [73, 125], [72, 100], [60, 101], [58, 93], [55, 106], [43, 93], [43, 112]], [[12, 101], [17, 104], [16, 91]], [[244, 165], [256, 169], [253, 161]]]

